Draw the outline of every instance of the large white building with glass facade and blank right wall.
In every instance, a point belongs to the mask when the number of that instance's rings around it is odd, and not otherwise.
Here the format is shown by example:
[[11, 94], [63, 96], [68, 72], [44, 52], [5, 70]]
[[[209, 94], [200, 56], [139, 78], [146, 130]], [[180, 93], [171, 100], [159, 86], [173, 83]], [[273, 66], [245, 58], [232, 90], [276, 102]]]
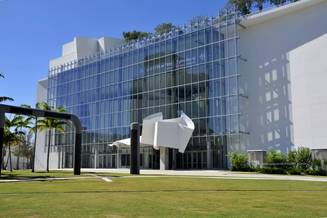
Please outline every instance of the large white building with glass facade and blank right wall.
[[[327, 0], [301, 0], [129, 43], [75, 37], [50, 61], [37, 100], [81, 119], [88, 168], [128, 168], [129, 149], [108, 145], [158, 112], [164, 119], [185, 113], [195, 124], [184, 153], [167, 151], [168, 169], [227, 169], [225, 155], [236, 149], [326, 148], [326, 11]], [[66, 132], [53, 133], [50, 169], [72, 167], [73, 127]], [[46, 167], [46, 137], [38, 134], [36, 169]], [[140, 167], [161, 168], [159, 151], [141, 148]]]

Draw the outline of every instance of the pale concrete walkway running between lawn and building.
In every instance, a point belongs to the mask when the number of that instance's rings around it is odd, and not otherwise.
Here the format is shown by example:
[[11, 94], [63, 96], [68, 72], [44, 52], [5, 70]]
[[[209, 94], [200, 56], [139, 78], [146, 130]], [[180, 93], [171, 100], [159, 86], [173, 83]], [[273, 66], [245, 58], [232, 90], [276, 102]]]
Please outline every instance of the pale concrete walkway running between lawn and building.
[[[57, 169], [58, 170], [58, 169]], [[73, 169], [60, 169], [72, 171]], [[129, 169], [81, 169], [81, 172], [94, 173], [128, 173]], [[215, 171], [215, 170], [140, 170], [143, 175], [184, 175], [184, 176], [220, 176], [220, 177], [249, 177], [249, 178], [265, 178], [265, 179], [289, 179], [289, 180], [304, 180], [304, 181], [324, 181], [327, 182], [327, 177], [312, 177], [312, 176], [296, 176], [296, 175], [267, 175], [267, 174], [251, 174], [251, 173], [231, 173], [230, 171]]]

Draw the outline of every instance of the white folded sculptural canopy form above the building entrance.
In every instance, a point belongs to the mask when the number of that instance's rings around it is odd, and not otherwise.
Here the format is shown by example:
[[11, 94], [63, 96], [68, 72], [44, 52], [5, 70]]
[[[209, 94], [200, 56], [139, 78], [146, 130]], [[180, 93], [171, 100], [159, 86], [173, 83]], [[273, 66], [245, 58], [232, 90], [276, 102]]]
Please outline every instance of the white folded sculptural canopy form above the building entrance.
[[[140, 146], [153, 146], [157, 150], [159, 146], [176, 148], [184, 153], [193, 130], [194, 123], [184, 113], [179, 118], [165, 120], [161, 112], [152, 114], [143, 120]], [[130, 138], [110, 144], [113, 145], [118, 148], [130, 148]]]

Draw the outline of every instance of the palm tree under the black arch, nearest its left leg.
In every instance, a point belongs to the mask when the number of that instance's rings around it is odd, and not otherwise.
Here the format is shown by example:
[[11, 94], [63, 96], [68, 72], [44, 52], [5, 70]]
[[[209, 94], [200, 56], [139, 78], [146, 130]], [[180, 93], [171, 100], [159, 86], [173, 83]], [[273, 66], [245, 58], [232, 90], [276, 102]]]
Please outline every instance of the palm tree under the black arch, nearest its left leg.
[[[10, 120], [11, 115], [9, 119], [5, 117], [5, 130], [4, 130], [4, 142], [7, 144], [9, 149], [9, 166], [10, 166], [10, 172], [12, 172], [12, 164], [11, 164], [11, 151], [10, 147], [17, 145], [19, 141], [18, 134], [24, 134], [24, 132], [18, 131], [18, 125], [19, 122], [23, 120], [23, 117], [14, 117], [12, 120]], [[13, 132], [11, 132], [10, 128], [15, 128]]]

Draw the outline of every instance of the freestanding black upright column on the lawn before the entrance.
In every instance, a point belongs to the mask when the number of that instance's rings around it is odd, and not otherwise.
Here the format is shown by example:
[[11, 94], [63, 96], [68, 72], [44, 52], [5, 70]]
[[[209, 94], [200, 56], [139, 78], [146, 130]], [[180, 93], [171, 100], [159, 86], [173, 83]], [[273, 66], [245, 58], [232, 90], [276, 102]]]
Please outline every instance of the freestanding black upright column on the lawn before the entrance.
[[130, 124], [130, 174], [140, 174], [140, 124]]

